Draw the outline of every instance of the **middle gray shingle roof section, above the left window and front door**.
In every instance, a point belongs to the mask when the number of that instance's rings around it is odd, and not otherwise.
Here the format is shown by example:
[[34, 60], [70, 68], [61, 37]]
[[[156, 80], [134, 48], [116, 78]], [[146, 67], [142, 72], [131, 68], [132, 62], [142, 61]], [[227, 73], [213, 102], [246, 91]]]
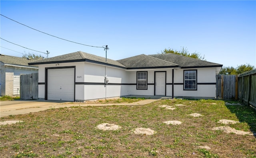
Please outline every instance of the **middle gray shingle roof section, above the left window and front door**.
[[124, 64], [127, 68], [178, 67], [178, 64], [150, 57], [144, 54], [117, 61]]

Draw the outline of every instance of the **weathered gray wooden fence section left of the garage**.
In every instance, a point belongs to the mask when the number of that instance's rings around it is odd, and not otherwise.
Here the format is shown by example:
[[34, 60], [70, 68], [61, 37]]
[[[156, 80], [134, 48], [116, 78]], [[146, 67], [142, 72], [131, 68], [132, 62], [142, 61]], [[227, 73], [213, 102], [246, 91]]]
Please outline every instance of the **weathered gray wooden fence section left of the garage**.
[[38, 73], [20, 75], [20, 99], [38, 99]]

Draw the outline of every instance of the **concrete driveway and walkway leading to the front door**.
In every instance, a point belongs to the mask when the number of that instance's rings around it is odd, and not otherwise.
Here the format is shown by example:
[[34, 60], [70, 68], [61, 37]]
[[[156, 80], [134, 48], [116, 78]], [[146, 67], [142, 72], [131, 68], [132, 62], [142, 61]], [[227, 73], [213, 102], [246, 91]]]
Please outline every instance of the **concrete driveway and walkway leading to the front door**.
[[144, 99], [134, 103], [106, 103], [106, 104], [86, 104], [73, 103], [66, 101], [48, 101], [48, 100], [15, 100], [0, 102], [0, 117], [9, 115], [18, 115], [25, 113], [34, 113], [46, 109], [72, 107], [72, 106], [111, 106], [111, 105], [145, 105], [158, 99]]

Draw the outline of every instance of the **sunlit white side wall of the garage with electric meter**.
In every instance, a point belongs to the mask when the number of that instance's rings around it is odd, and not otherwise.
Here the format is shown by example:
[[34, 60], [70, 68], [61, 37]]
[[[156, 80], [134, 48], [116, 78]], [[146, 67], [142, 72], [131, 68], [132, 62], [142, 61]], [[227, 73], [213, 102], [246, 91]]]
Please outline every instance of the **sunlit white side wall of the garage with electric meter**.
[[[108, 84], [104, 85], [105, 75]], [[84, 100], [119, 97], [128, 95], [121, 84], [126, 83], [124, 69], [104, 66], [94, 63], [85, 63], [84, 66]]]

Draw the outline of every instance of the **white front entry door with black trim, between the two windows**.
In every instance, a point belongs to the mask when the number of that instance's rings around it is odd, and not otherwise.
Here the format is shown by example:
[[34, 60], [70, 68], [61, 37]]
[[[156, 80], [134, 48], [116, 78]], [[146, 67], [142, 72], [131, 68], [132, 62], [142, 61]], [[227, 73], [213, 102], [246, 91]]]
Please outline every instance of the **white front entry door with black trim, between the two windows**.
[[166, 87], [166, 81], [165, 81], [165, 72], [156, 72], [155, 73], [155, 94], [165, 96], [165, 87]]

